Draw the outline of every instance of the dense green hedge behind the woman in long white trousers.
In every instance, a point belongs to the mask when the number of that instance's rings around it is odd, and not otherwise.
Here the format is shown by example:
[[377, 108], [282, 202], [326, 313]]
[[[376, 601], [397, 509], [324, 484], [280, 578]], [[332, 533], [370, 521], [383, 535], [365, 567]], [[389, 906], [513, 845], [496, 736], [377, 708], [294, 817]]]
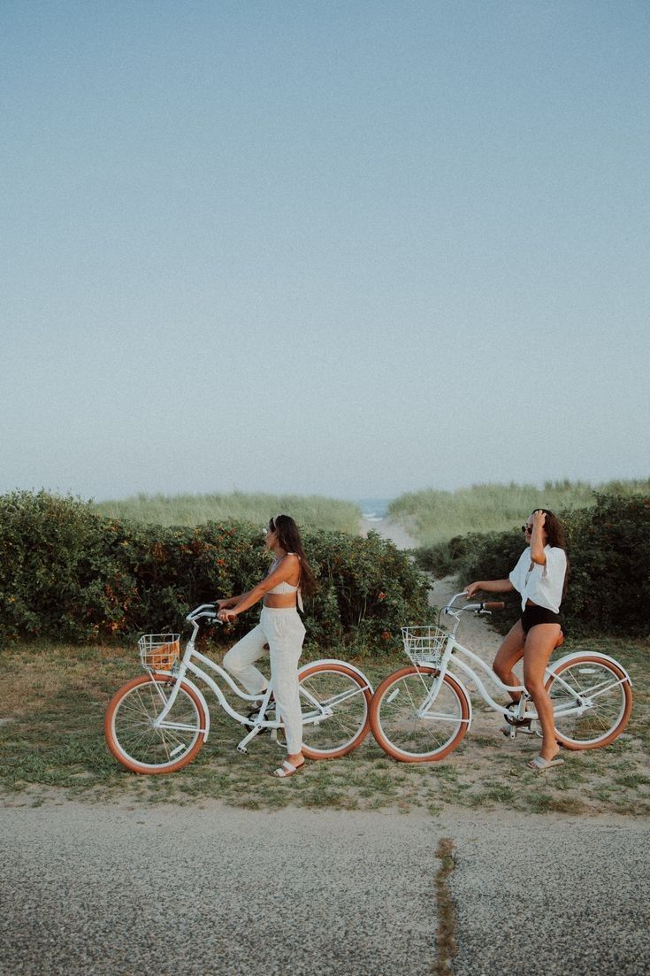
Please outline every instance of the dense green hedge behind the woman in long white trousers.
[[[399, 628], [425, 621], [427, 580], [371, 533], [305, 534], [319, 587], [305, 602], [310, 642], [393, 650]], [[194, 606], [250, 590], [269, 564], [260, 525], [196, 528], [106, 518], [47, 492], [0, 497], [0, 637], [82, 642], [178, 630]], [[256, 610], [215, 639], [232, 643]]]

